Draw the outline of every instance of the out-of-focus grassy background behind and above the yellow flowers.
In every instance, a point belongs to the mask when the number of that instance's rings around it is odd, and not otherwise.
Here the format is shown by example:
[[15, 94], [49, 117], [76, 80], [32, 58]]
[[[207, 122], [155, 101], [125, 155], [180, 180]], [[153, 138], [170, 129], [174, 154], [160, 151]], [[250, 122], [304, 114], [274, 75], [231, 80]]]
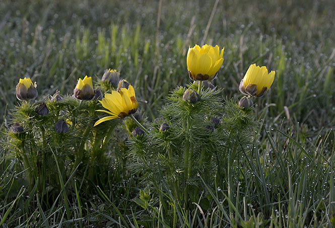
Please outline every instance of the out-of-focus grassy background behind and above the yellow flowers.
[[[214, 10], [214, 11], [213, 11]], [[211, 17], [213, 11], [213, 15]], [[39, 98], [72, 94], [78, 78], [121, 71], [140, 107], [156, 118], [162, 100], [190, 82], [188, 46], [225, 47], [214, 84], [241, 97], [250, 64], [276, 70], [259, 118], [285, 116], [308, 129], [331, 127], [335, 112], [335, 4], [324, 1], [2, 1], [0, 108], [17, 103], [19, 78], [31, 77]], [[5, 113], [6, 114], [6, 113]], [[2, 117], [3, 118], [3, 117]], [[272, 120], [273, 119], [273, 120]]]

